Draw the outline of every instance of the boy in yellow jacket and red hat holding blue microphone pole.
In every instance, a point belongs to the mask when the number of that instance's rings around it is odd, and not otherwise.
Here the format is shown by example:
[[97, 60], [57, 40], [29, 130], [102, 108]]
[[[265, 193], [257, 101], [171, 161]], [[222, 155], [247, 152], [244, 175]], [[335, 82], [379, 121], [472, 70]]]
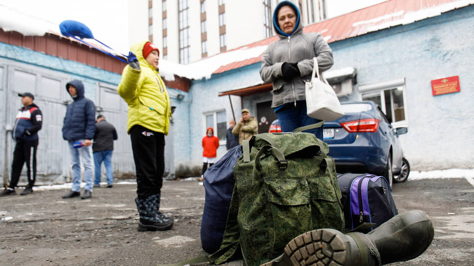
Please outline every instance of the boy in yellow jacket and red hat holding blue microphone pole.
[[159, 56], [160, 50], [150, 42], [132, 45], [119, 84], [119, 95], [128, 104], [127, 132], [137, 175], [139, 231], [173, 226], [173, 219], [160, 212], [171, 107], [165, 83], [158, 75]]

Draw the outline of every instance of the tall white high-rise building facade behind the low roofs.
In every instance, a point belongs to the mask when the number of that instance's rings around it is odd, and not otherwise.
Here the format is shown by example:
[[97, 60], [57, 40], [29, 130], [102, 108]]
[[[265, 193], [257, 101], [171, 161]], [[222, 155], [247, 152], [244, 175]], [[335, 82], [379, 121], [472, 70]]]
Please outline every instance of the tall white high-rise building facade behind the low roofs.
[[[282, 0], [129, 0], [129, 44], [150, 40], [161, 57], [188, 64], [274, 35]], [[326, 0], [291, 0], [304, 25], [325, 19]]]

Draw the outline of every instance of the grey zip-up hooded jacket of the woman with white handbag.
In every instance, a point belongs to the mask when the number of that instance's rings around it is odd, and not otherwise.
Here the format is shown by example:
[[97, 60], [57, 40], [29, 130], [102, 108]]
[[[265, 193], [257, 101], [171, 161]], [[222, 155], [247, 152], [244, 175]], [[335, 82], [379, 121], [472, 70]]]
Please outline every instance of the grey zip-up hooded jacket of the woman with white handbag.
[[[278, 11], [284, 5], [292, 6], [297, 19], [295, 28], [290, 34], [284, 33], [278, 24]], [[303, 24], [298, 8], [289, 1], [280, 2], [273, 13], [273, 28], [280, 37], [268, 45], [262, 55], [260, 68], [261, 79], [273, 83], [272, 108], [287, 103], [306, 100], [305, 81], [311, 80], [313, 57], [318, 60], [319, 72], [332, 67], [332, 50], [319, 33], [303, 33]], [[301, 76], [289, 82], [283, 80], [282, 65], [284, 62], [298, 63]]]

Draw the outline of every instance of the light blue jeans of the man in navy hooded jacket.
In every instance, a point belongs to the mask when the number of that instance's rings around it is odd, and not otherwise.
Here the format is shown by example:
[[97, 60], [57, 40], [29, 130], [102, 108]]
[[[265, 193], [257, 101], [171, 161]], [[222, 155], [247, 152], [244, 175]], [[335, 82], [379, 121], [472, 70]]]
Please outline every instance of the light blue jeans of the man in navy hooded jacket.
[[[82, 139], [81, 141], [84, 142]], [[92, 192], [92, 163], [91, 163], [91, 154], [90, 146], [83, 146], [81, 148], [72, 147], [72, 143], [75, 141], [68, 141], [69, 151], [71, 153], [71, 168], [72, 168], [72, 191], [79, 192], [81, 191], [81, 161], [84, 166], [84, 181], [86, 185], [84, 190], [89, 190]]]

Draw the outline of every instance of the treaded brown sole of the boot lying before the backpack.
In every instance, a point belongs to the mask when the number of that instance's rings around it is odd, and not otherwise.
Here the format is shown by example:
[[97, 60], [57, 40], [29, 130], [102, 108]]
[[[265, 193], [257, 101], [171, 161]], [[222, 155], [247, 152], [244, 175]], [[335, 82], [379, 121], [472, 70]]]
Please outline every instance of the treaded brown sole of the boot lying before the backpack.
[[334, 229], [306, 232], [292, 239], [280, 257], [262, 266], [344, 266], [350, 255], [346, 239]]

